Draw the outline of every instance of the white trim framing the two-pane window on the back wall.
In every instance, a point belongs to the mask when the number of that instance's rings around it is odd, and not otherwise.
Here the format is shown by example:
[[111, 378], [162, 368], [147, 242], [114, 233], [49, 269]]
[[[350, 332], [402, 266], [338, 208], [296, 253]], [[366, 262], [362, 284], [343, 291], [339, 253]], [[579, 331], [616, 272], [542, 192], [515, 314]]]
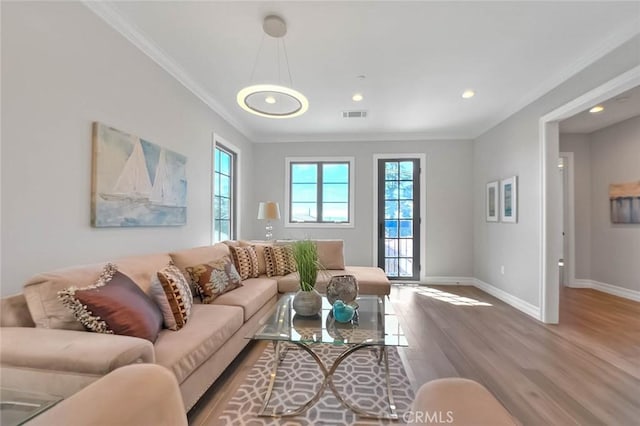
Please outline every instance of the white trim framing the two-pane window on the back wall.
[[[285, 228], [355, 228], [355, 157], [285, 157], [284, 173], [284, 227]], [[291, 186], [291, 163], [298, 162], [348, 162], [349, 163], [349, 222], [347, 223], [310, 223], [289, 222]], [[321, 184], [321, 182], [320, 182]]]

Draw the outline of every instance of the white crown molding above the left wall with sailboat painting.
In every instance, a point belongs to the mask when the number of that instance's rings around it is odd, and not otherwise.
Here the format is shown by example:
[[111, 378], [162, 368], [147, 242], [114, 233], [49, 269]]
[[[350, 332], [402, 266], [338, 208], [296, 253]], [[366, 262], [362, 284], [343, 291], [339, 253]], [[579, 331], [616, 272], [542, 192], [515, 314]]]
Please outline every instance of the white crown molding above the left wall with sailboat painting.
[[140, 49], [145, 55], [160, 65], [167, 73], [175, 78], [187, 90], [193, 93], [198, 99], [204, 102], [215, 113], [222, 117], [229, 125], [234, 127], [239, 133], [253, 142], [255, 135], [244, 124], [233, 117], [211, 94], [189, 75], [176, 61], [166, 52], [160, 49], [147, 37], [142, 30], [125, 19], [117, 8], [104, 1], [83, 0], [82, 3], [99, 18], [106, 22], [111, 28], [129, 40], [134, 46]]

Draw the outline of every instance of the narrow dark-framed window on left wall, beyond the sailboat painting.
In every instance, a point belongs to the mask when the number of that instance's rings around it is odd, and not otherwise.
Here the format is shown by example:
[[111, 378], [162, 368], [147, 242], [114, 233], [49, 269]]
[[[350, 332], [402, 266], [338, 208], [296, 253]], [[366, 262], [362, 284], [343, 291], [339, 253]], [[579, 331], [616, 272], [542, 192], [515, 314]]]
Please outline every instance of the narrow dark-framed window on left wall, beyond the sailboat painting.
[[213, 171], [213, 241], [236, 237], [236, 158], [219, 143], [214, 149]]

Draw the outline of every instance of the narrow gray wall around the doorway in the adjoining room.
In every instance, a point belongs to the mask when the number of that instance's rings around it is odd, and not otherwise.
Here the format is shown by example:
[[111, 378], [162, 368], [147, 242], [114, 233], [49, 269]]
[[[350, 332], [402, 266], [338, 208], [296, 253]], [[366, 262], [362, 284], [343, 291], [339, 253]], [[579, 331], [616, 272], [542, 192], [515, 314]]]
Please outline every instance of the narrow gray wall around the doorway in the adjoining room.
[[591, 144], [589, 136], [560, 134], [560, 152], [573, 152], [575, 277], [591, 279]]

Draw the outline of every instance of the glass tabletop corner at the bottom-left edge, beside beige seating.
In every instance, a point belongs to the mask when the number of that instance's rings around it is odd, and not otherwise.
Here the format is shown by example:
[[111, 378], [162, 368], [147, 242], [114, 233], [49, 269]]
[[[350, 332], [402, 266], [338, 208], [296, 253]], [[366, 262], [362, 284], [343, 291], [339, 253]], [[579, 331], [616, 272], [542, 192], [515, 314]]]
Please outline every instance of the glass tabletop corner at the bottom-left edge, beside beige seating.
[[21, 425], [61, 400], [54, 395], [0, 388], [0, 424]]

